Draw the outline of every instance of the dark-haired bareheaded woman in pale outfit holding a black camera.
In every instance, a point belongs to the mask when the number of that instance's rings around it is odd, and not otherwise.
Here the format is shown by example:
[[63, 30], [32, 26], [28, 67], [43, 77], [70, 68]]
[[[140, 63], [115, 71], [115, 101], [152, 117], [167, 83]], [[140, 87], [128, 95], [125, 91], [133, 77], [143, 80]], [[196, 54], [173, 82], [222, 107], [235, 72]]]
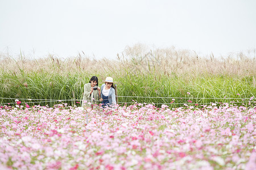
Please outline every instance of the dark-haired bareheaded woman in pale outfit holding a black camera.
[[82, 96], [82, 107], [93, 108], [94, 104], [97, 104], [101, 98], [101, 89], [98, 87], [97, 76], [92, 76], [89, 83], [84, 84], [84, 94]]

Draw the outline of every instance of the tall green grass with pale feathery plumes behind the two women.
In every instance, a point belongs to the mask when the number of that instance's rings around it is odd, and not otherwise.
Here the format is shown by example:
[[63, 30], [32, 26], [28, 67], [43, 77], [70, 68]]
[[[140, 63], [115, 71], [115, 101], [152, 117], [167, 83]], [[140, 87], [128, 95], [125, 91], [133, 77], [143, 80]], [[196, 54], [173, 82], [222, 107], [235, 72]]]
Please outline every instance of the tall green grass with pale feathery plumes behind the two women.
[[[171, 107], [177, 107], [179, 103], [234, 101], [237, 105], [255, 105], [254, 56], [230, 53], [225, 58], [213, 54], [202, 57], [190, 50], [150, 50], [141, 44], [128, 46], [116, 59], [95, 59], [85, 54], [66, 59], [49, 54], [47, 58], [31, 59], [23, 54], [19, 58], [2, 54], [0, 103], [44, 99], [67, 100], [65, 103], [73, 104], [73, 96], [79, 102], [84, 84], [96, 75], [99, 86], [106, 76], [112, 76], [118, 82], [118, 96], [134, 96], [118, 97], [119, 104], [138, 101], [156, 105], [171, 103]], [[44, 100], [20, 101], [50, 107], [58, 103]]]

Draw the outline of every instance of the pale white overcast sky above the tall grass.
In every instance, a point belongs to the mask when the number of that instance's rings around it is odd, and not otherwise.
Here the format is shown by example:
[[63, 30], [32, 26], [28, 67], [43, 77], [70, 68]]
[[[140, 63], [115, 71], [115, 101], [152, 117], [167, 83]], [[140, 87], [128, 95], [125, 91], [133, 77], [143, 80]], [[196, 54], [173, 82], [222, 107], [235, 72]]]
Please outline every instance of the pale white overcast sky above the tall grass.
[[0, 0], [0, 52], [115, 58], [126, 46], [255, 49], [255, 0]]

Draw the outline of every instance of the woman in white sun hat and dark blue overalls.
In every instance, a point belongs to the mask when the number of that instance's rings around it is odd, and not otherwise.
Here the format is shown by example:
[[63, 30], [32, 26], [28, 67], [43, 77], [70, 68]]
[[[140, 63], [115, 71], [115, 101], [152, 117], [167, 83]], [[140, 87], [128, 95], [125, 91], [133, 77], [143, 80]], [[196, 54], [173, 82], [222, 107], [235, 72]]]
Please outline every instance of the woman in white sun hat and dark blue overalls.
[[101, 99], [103, 107], [106, 107], [106, 105], [110, 104], [117, 104], [115, 101], [115, 88], [114, 84], [116, 82], [113, 82], [113, 78], [108, 76], [106, 80], [104, 81], [105, 84], [102, 84], [101, 86]]

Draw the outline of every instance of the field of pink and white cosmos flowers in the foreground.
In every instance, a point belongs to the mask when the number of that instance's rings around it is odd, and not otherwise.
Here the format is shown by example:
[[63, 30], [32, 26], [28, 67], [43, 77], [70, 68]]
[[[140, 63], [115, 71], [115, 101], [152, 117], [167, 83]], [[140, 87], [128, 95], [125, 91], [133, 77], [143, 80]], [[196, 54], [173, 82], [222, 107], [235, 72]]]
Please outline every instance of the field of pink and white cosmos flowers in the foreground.
[[255, 113], [228, 103], [3, 106], [0, 169], [256, 169]]

